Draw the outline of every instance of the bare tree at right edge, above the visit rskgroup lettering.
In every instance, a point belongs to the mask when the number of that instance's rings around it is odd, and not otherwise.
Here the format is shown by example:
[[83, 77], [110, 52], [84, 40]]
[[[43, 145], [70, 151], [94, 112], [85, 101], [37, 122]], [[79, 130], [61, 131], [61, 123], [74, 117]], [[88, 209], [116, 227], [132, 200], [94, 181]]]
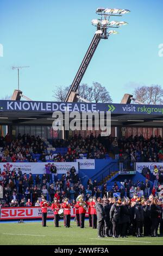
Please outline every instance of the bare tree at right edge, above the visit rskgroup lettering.
[[163, 89], [158, 85], [137, 87], [133, 95], [136, 100], [145, 104], [163, 103]]

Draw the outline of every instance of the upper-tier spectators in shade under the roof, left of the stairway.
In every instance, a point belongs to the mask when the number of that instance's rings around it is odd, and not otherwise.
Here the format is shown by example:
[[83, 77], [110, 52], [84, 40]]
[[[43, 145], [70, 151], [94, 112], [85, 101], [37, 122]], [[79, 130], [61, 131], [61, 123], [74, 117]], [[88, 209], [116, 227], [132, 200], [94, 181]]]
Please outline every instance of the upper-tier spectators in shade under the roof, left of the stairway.
[[[66, 153], [55, 154], [47, 150], [47, 145], [37, 136], [20, 134], [16, 139], [11, 140], [9, 134], [5, 137], [0, 136], [0, 162], [37, 162], [37, 161], [54, 161], [54, 162], [73, 162], [85, 156], [87, 159], [105, 159], [107, 153], [101, 142], [101, 136], [97, 138], [91, 134], [86, 138], [75, 135], [68, 139], [52, 141], [54, 148], [66, 148]], [[35, 157], [39, 154], [39, 159]]]

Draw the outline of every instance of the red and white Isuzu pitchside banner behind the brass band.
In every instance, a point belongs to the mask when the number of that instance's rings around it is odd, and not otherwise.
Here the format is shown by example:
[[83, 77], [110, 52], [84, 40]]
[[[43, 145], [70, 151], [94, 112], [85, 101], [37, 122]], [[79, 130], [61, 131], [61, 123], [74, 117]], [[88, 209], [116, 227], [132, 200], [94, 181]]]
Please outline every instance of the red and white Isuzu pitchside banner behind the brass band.
[[[76, 216], [76, 209], [71, 209], [71, 217]], [[88, 214], [86, 214], [86, 217]], [[53, 218], [54, 212], [51, 208], [47, 209], [47, 218]], [[14, 220], [23, 218], [42, 218], [40, 207], [9, 207], [1, 208], [0, 220]]]

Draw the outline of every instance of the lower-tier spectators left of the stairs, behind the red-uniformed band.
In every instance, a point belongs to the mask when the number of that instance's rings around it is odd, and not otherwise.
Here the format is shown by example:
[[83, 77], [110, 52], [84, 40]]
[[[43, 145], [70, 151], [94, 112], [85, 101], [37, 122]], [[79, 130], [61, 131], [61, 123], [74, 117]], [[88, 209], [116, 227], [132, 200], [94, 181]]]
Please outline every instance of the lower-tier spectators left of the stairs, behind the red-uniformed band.
[[22, 174], [20, 168], [17, 171], [15, 168], [0, 170], [4, 206], [35, 205], [42, 196], [49, 202], [53, 201], [54, 196], [58, 199], [67, 197], [72, 201], [85, 191], [74, 167], [70, 172], [62, 174], [60, 178], [55, 172], [56, 167], [53, 163], [50, 165], [51, 174], [47, 173], [47, 168], [43, 175]]

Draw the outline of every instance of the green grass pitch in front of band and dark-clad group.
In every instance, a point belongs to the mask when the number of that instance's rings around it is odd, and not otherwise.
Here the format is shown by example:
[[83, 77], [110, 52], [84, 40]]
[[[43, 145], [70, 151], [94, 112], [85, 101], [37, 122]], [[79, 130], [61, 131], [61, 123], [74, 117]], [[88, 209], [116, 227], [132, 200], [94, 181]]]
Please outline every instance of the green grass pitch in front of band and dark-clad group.
[[163, 237], [129, 236], [128, 238], [105, 237], [98, 239], [97, 229], [89, 228], [85, 221], [84, 229], [71, 220], [71, 228], [55, 228], [53, 221], [42, 227], [40, 222], [0, 223], [0, 245], [163, 245]]

